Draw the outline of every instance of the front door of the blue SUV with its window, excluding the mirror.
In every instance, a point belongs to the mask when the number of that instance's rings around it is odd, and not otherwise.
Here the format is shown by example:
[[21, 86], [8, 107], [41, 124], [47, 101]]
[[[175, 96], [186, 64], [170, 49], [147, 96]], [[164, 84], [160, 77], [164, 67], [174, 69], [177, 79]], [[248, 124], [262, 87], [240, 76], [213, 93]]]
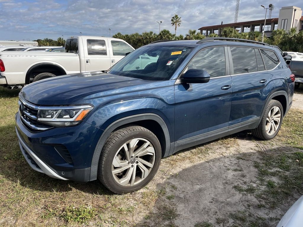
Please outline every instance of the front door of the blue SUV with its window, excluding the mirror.
[[175, 84], [176, 150], [228, 132], [232, 82], [226, 59], [227, 47], [203, 49], [194, 56], [185, 71], [204, 69], [210, 74], [210, 81]]

